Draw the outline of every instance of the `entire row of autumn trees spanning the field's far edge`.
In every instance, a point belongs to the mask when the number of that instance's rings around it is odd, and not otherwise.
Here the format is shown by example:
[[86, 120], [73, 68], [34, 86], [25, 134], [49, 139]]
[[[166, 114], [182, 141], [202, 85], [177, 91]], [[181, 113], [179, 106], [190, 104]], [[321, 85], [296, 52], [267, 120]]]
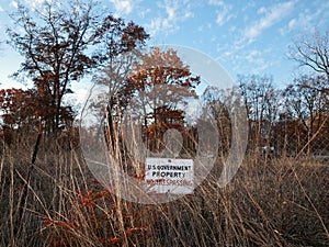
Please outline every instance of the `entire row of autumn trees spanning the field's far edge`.
[[[8, 43], [23, 57], [13, 77], [31, 80], [33, 88], [0, 90], [2, 120], [10, 128], [29, 126], [57, 135], [72, 126], [77, 112], [65, 97], [72, 93], [72, 81], [92, 72], [92, 80], [107, 89], [106, 102], [94, 101], [89, 106], [105, 121], [111, 146], [122, 134], [122, 116], [132, 109], [131, 117], [141, 116], [141, 142], [152, 150], [161, 149], [159, 139], [169, 128], [197, 138], [182, 109], [188, 99], [197, 98], [202, 78], [193, 76], [173, 49], [154, 47], [144, 53], [149, 35], [141, 26], [106, 14], [98, 2], [87, 0], [45, 1], [38, 10], [20, 4], [11, 16], [14, 25], [7, 31]], [[272, 77], [239, 76], [235, 93], [246, 105], [249, 150], [329, 151], [328, 44], [328, 32], [296, 41], [291, 58], [314, 74], [303, 75], [283, 89], [273, 86]], [[217, 121], [219, 147], [225, 153], [230, 143], [227, 102], [232, 92], [209, 87], [201, 97]], [[184, 138], [184, 146], [193, 149], [195, 142]]]

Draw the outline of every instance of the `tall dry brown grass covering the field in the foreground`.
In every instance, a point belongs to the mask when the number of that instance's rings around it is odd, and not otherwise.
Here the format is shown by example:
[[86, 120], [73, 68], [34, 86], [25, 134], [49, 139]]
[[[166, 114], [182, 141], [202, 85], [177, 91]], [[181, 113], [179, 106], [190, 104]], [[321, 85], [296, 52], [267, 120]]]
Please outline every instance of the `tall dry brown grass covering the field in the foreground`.
[[35, 139], [2, 151], [0, 246], [329, 246], [328, 162], [249, 155], [218, 188], [218, 159], [193, 194], [143, 205], [115, 197], [79, 149], [52, 139], [30, 165]]

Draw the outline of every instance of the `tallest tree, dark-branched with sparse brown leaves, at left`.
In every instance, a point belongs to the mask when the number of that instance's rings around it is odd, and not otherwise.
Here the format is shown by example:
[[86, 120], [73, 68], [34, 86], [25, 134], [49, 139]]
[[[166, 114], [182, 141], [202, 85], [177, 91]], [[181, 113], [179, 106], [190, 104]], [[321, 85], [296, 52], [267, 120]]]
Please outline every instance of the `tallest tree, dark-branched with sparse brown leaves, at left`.
[[48, 99], [53, 114], [44, 125], [49, 133], [64, 125], [63, 101], [72, 81], [148, 38], [134, 22], [100, 12], [95, 1], [45, 1], [32, 11], [19, 4], [11, 16], [8, 43], [24, 58], [14, 76], [30, 78], [35, 96]]

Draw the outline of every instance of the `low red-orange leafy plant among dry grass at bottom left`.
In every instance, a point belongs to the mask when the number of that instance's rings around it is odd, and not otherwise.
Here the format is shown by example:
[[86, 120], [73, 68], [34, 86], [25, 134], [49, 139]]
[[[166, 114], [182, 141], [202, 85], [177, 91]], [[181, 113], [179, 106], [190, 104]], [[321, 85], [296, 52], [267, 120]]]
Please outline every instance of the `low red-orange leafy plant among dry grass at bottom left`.
[[117, 246], [125, 242], [140, 244], [150, 237], [151, 222], [145, 216], [152, 212], [125, 204], [106, 189], [78, 191], [70, 202], [60, 215], [43, 220], [42, 234], [46, 234], [48, 246], [80, 246], [81, 243]]

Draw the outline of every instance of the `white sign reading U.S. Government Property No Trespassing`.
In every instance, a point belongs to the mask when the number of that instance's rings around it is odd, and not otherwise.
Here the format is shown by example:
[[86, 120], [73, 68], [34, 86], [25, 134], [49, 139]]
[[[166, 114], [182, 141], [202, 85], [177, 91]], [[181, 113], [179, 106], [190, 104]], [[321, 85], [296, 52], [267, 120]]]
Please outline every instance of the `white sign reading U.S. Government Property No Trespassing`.
[[145, 181], [150, 192], [190, 194], [193, 192], [193, 160], [146, 158]]

